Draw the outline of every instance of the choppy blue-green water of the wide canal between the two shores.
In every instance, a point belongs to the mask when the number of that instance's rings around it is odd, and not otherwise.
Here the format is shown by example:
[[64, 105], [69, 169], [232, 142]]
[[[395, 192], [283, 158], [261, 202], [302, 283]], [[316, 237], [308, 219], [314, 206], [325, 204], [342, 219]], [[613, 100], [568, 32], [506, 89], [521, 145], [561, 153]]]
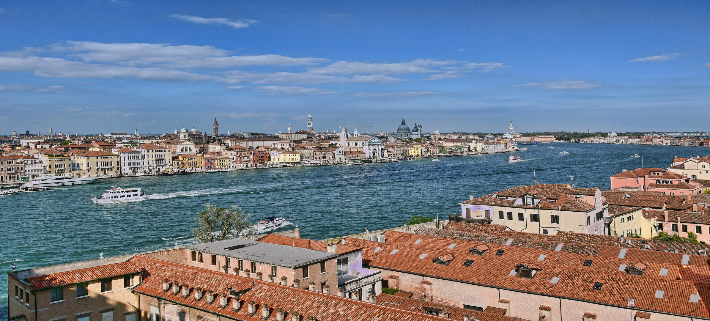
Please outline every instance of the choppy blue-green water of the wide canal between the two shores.
[[[554, 148], [548, 148], [548, 147]], [[412, 215], [459, 212], [469, 195], [485, 195], [532, 184], [535, 164], [540, 183], [609, 187], [609, 176], [641, 166], [667, 168], [673, 156], [704, 156], [708, 148], [545, 143], [520, 151], [523, 161], [508, 163], [510, 153], [439, 158], [399, 163], [366, 163], [236, 170], [175, 176], [116, 178], [79, 187], [53, 187], [0, 197], [4, 246], [0, 268], [18, 269], [163, 249], [192, 241], [195, 212], [207, 202], [236, 205], [262, 217], [283, 216], [301, 236], [325, 239], [394, 227]], [[567, 151], [569, 154], [560, 152]], [[148, 200], [94, 205], [114, 183], [143, 187]], [[435, 202], [439, 202], [435, 205]], [[293, 229], [293, 225], [280, 228]], [[0, 294], [7, 295], [0, 278]], [[6, 302], [0, 315], [6, 315]]]

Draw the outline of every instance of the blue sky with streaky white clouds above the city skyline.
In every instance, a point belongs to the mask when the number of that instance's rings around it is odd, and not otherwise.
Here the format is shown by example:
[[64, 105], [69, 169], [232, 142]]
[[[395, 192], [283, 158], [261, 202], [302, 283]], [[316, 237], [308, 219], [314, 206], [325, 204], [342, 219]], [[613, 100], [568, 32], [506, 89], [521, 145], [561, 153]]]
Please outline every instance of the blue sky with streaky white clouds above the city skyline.
[[710, 1], [569, 2], [3, 1], [0, 134], [710, 131]]

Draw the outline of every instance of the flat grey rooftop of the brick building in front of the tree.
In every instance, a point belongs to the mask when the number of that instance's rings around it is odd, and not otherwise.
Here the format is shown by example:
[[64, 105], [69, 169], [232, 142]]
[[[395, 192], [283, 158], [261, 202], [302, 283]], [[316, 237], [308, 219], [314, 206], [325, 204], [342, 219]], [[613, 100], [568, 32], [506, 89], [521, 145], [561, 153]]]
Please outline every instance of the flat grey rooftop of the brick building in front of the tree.
[[[248, 239], [227, 239], [224, 241], [187, 245], [185, 248], [192, 251], [200, 251], [287, 268], [296, 268], [308, 263], [338, 256], [335, 253], [325, 251], [301, 249], [300, 247], [251, 241]], [[232, 266], [235, 266], [234, 263], [232, 263]]]

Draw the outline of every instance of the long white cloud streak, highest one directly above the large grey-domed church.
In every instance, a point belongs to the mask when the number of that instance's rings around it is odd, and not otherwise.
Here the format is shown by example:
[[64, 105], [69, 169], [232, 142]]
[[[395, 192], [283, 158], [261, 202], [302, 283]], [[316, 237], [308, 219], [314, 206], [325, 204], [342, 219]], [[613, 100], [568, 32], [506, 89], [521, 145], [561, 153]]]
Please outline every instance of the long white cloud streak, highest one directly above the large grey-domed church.
[[410, 62], [372, 63], [337, 61], [327, 67], [310, 68], [308, 72], [320, 75], [356, 75], [356, 74], [411, 74], [437, 72], [431, 67], [453, 65], [456, 60], [417, 59]]

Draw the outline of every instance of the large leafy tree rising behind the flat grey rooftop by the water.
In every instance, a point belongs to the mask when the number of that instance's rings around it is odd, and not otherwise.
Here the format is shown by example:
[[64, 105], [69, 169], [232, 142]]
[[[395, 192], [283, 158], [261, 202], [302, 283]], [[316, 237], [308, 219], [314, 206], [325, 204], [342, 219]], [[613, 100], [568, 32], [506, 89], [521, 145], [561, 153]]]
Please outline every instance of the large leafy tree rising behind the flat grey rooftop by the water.
[[250, 217], [251, 214], [244, 214], [244, 211], [236, 206], [224, 208], [207, 203], [204, 205], [204, 211], [197, 212], [197, 227], [192, 229], [192, 236], [198, 243], [234, 239], [239, 234], [251, 236], [256, 231], [247, 222]]

